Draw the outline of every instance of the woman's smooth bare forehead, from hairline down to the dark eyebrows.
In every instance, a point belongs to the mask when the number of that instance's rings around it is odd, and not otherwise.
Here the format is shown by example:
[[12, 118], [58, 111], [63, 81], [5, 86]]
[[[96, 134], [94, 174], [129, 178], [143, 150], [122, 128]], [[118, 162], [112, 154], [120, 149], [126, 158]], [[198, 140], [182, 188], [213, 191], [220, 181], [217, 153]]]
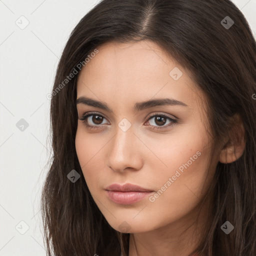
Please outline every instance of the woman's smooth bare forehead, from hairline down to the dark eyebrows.
[[77, 97], [88, 95], [116, 107], [171, 97], [196, 106], [194, 99], [201, 92], [186, 70], [154, 42], [108, 42], [97, 49], [79, 73]]

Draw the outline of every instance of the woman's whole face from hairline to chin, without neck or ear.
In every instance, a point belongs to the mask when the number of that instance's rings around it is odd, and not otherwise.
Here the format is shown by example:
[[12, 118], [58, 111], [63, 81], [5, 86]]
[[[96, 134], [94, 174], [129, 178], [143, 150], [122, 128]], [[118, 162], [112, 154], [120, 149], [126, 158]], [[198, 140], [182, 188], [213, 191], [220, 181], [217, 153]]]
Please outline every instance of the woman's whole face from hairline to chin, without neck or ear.
[[[97, 49], [78, 77], [75, 137], [95, 203], [122, 232], [185, 219], [214, 174], [205, 97], [151, 41]], [[216, 164], [217, 154], [213, 159]]]

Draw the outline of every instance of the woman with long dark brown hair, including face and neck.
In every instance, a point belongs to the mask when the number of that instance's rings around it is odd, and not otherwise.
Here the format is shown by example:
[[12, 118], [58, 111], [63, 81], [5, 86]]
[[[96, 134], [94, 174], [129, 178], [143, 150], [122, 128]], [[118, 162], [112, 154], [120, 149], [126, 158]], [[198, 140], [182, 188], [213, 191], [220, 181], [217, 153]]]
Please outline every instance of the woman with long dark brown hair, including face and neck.
[[256, 44], [229, 0], [102, 0], [51, 93], [48, 255], [256, 255]]

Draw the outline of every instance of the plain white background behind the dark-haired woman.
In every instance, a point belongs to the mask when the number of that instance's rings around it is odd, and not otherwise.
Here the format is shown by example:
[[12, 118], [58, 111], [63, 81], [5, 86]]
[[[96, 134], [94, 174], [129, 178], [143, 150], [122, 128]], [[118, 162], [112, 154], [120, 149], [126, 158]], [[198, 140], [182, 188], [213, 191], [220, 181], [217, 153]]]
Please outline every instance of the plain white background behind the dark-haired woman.
[[[96, 2], [0, 0], [0, 256], [46, 255], [38, 213], [50, 156], [46, 95], [71, 30]], [[256, 36], [256, 0], [233, 2]]]

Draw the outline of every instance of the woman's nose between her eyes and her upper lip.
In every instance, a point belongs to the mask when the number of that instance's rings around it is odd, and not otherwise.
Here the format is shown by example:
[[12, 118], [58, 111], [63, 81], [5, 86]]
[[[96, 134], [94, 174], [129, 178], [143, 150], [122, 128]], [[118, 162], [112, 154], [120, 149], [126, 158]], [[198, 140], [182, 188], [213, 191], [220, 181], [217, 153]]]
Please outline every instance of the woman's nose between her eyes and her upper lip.
[[143, 165], [142, 146], [132, 126], [126, 131], [117, 127], [116, 134], [108, 143], [107, 166], [117, 172], [139, 170]]

